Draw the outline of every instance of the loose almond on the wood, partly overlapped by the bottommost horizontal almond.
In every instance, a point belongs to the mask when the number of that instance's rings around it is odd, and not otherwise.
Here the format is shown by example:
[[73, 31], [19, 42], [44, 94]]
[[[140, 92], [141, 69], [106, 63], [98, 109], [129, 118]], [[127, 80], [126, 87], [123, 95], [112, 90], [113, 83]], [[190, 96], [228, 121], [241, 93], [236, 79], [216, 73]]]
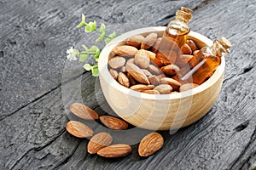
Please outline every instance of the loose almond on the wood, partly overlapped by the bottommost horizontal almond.
[[111, 144], [112, 141], [113, 138], [109, 133], [97, 133], [90, 139], [87, 151], [90, 154], [96, 154], [99, 150]]

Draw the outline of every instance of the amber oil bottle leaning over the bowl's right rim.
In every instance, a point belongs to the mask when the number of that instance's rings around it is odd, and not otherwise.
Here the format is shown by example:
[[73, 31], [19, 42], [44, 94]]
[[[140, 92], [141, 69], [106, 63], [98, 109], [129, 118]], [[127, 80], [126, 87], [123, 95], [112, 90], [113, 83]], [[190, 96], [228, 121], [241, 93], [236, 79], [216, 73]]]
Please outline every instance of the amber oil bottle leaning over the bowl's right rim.
[[188, 64], [178, 72], [180, 81], [195, 84], [205, 82], [207, 77], [211, 77], [218, 65], [221, 64], [221, 57], [230, 53], [230, 47], [230, 41], [222, 37], [220, 40], [216, 39], [211, 48], [201, 48], [200, 52], [195, 54]]

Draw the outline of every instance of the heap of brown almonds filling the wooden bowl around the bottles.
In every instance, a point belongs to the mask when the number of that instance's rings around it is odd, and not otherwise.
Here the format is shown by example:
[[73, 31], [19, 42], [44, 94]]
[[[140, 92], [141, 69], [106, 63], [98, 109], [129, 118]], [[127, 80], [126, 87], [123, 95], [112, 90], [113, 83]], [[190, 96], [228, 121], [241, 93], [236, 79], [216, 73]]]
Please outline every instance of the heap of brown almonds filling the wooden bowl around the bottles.
[[[181, 84], [177, 71], [185, 65], [192, 54], [199, 52], [194, 41], [188, 40], [181, 49], [182, 55], [174, 64], [156, 58], [162, 37], [156, 33], [128, 38], [125, 45], [113, 48], [108, 60], [111, 76], [125, 88], [147, 94], [173, 94], [198, 85]], [[177, 57], [177, 56], [176, 56]]]

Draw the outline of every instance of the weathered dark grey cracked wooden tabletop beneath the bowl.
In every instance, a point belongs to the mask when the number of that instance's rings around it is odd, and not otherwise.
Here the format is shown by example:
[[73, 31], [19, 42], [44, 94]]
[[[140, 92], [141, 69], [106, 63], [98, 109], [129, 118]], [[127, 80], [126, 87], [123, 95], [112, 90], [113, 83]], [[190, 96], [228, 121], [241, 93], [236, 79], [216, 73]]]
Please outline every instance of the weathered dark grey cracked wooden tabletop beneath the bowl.
[[[125, 158], [87, 154], [88, 140], [65, 130], [65, 108], [83, 101], [105, 114], [99, 105], [108, 105], [98, 79], [66, 59], [68, 47], [95, 43], [76, 28], [80, 15], [125, 32], [166, 26], [180, 6], [195, 10], [193, 31], [233, 43], [218, 101], [199, 122], [172, 135], [161, 132], [165, 144], [154, 156], [140, 158], [137, 144]], [[251, 0], [1, 0], [0, 169], [255, 168], [255, 8]]]

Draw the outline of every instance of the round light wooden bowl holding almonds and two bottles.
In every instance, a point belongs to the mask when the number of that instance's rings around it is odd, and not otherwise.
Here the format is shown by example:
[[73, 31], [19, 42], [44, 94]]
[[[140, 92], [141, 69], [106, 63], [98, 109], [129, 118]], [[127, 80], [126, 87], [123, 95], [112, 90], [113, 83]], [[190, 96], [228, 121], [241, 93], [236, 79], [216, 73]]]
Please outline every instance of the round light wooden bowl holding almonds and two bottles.
[[[198, 121], [212, 108], [218, 98], [224, 78], [225, 61], [207, 82], [199, 87], [179, 94], [143, 94], [125, 88], [116, 82], [108, 72], [108, 59], [112, 49], [125, 44], [128, 37], [150, 32], [163, 34], [166, 27], [146, 27], [129, 31], [116, 37], [102, 49], [99, 59], [99, 77], [102, 92], [110, 107], [125, 121], [136, 127], [152, 130], [170, 130], [185, 127]], [[195, 31], [189, 32], [189, 39], [194, 40], [200, 48], [212, 46], [212, 41]]]

